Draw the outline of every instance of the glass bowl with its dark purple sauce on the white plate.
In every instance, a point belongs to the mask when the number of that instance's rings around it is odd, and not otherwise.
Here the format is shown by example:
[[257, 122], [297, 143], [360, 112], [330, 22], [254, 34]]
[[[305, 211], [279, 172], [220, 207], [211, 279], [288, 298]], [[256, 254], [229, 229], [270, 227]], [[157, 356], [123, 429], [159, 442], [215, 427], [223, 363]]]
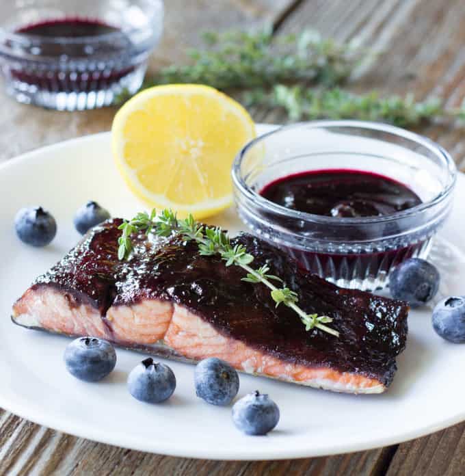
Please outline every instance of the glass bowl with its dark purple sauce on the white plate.
[[402, 261], [427, 257], [455, 175], [427, 138], [350, 120], [276, 129], [233, 164], [237, 210], [252, 233], [322, 278], [367, 291], [386, 287]]

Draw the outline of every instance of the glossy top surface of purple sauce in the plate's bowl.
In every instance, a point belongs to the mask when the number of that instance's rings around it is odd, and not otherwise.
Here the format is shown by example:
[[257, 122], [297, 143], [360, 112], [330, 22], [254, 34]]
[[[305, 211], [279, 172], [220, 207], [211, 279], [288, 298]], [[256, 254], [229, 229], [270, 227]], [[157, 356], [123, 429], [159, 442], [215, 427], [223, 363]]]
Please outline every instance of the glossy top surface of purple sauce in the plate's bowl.
[[421, 204], [406, 185], [358, 170], [315, 170], [278, 178], [261, 195], [289, 209], [328, 217], [390, 215]]

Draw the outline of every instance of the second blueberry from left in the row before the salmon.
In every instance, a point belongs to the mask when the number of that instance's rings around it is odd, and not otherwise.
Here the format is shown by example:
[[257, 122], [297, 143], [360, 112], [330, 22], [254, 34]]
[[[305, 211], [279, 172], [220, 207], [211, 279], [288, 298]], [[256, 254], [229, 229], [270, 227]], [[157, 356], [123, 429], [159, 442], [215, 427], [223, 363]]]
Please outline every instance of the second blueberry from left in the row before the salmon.
[[129, 374], [131, 395], [148, 404], [159, 404], [173, 395], [176, 377], [168, 365], [154, 362], [151, 357], [142, 360]]

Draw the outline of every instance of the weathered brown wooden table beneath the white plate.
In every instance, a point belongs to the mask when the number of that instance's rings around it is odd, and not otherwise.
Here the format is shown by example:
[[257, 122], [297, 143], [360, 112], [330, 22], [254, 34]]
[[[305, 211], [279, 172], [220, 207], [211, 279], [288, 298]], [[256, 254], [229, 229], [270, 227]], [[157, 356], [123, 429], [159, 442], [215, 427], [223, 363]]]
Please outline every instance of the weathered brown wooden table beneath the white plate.
[[[0, 14], [1, 9], [0, 5]], [[166, 10], [165, 35], [153, 55], [152, 68], [183, 59], [185, 47], [198, 44], [198, 32], [204, 29], [272, 23], [280, 33], [314, 27], [324, 36], [342, 41], [358, 38], [367, 47], [382, 51], [360, 72], [362, 77], [351, 86], [354, 90], [376, 87], [386, 93], [413, 91], [420, 99], [440, 95], [450, 107], [460, 105], [465, 96], [463, 0], [168, 0]], [[107, 131], [115, 112], [45, 111], [19, 105], [6, 96], [2, 96], [1, 109], [0, 161], [70, 137]], [[283, 120], [276, 111], [252, 113], [259, 122]], [[464, 131], [436, 126], [422, 133], [447, 148], [463, 169]], [[401, 445], [328, 458], [215, 462], [102, 445], [0, 410], [0, 475], [17, 473], [464, 475], [465, 423]]]

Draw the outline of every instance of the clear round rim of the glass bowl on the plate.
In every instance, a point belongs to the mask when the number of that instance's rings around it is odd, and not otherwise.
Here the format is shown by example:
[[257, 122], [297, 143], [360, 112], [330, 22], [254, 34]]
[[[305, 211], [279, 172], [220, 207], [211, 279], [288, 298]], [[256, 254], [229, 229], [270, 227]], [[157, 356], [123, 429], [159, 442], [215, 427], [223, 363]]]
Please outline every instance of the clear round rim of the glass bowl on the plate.
[[[419, 144], [431, 150], [431, 152], [433, 152], [436, 156], [441, 157], [442, 160], [444, 160], [445, 167], [447, 168], [447, 170], [449, 171], [449, 175], [451, 176], [451, 181], [447, 185], [447, 187], [444, 187], [436, 197], [432, 198], [431, 200], [428, 200], [427, 202], [422, 202], [421, 204], [418, 204], [410, 209], [375, 217], [327, 217], [325, 215], [315, 215], [314, 213], [307, 213], [304, 211], [288, 209], [287, 207], [271, 202], [271, 200], [268, 200], [267, 198], [258, 194], [256, 191], [252, 190], [245, 183], [243, 176], [241, 176], [241, 163], [245, 155], [248, 153], [248, 150], [250, 150], [250, 148], [252, 148], [256, 144], [260, 144], [263, 140], [267, 139], [267, 137], [277, 133], [288, 131], [290, 129], [321, 129], [336, 127], [353, 127], [357, 129], [365, 129], [367, 131], [381, 131], [385, 133], [390, 133], [392, 135], [397, 135], [399, 137], [403, 137], [404, 139], [410, 140], [412, 142], [416, 142], [416, 144]], [[442, 146], [429, 139], [428, 137], [425, 137], [424, 135], [407, 131], [406, 129], [402, 129], [401, 127], [392, 126], [383, 122], [372, 122], [364, 120], [315, 120], [295, 122], [293, 124], [284, 125], [278, 127], [277, 129], [274, 129], [273, 131], [269, 131], [250, 140], [247, 144], [245, 144], [245, 146], [243, 146], [243, 148], [241, 148], [241, 150], [239, 150], [239, 153], [237, 153], [233, 162], [231, 175], [233, 178], [234, 185], [237, 187], [237, 189], [239, 189], [241, 194], [248, 198], [248, 200], [253, 200], [253, 202], [256, 202], [261, 207], [266, 208], [267, 211], [271, 211], [278, 215], [285, 215], [288, 218], [293, 217], [296, 220], [305, 220], [306, 222], [316, 222], [319, 224], [326, 224], [332, 226], [347, 226], [356, 224], [360, 225], [380, 222], [391, 222], [399, 220], [400, 218], [415, 215], [416, 213], [421, 213], [422, 211], [434, 207], [436, 204], [440, 204], [440, 202], [446, 200], [450, 196], [451, 192], [455, 187], [455, 183], [457, 181], [457, 166], [455, 165], [455, 162], [453, 161], [451, 155]]]

